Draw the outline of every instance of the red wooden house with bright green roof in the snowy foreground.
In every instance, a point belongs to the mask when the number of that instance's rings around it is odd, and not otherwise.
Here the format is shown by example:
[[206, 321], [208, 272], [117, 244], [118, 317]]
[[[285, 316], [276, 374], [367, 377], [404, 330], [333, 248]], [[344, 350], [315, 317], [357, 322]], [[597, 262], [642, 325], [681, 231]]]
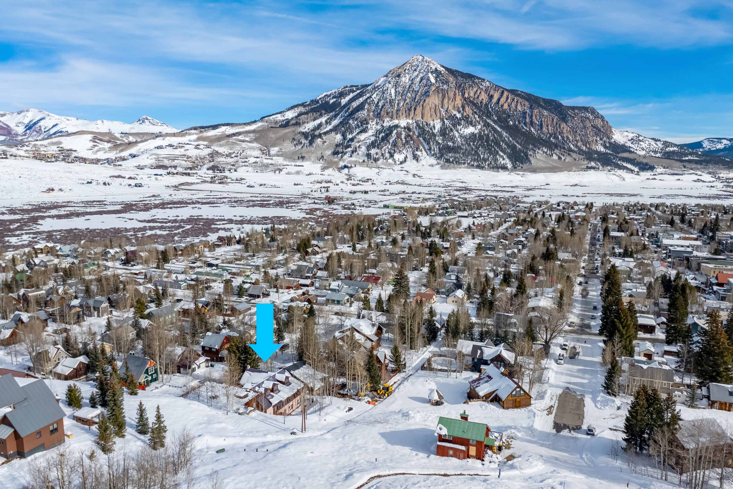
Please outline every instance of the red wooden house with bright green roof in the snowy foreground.
[[461, 413], [460, 419], [444, 416], [438, 418], [435, 435], [438, 435], [438, 444], [435, 447], [435, 455], [438, 457], [484, 460], [487, 447], [496, 444], [489, 425], [468, 421], [465, 411]]

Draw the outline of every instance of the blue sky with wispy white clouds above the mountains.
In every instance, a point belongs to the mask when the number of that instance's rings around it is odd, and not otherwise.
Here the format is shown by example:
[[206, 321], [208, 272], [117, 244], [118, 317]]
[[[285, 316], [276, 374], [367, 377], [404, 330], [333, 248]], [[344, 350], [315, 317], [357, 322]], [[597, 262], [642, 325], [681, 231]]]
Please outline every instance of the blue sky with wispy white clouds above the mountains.
[[645, 136], [733, 136], [733, 0], [2, 3], [4, 111], [246, 122], [424, 54]]

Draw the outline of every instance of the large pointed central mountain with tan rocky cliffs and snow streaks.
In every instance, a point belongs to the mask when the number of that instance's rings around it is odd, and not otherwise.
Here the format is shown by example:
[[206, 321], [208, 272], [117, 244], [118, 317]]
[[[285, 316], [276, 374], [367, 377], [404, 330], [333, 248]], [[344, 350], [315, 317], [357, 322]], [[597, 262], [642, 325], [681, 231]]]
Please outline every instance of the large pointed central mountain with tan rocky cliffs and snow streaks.
[[540, 153], [602, 155], [605, 163], [619, 163], [611, 155], [633, 152], [592, 107], [499, 87], [424, 56], [413, 56], [372, 84], [327, 92], [265, 120], [300, 125], [296, 145], [331, 135], [334, 155], [371, 161], [429, 158], [512, 168]]

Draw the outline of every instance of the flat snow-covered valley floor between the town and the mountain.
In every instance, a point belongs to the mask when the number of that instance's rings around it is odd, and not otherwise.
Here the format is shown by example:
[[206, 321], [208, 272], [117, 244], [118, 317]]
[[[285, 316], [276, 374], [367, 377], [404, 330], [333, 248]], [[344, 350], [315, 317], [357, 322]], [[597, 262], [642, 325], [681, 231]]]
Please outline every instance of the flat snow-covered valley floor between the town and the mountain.
[[[70, 238], [155, 233], [207, 238], [285, 219], [432, 204], [446, 195], [596, 203], [733, 200], [725, 176], [694, 172], [489, 172], [424, 163], [328, 169], [317, 162], [268, 158], [240, 163], [237, 171], [223, 174], [228, 177], [224, 183], [222, 174], [166, 174], [143, 161], [108, 166], [0, 159], [1, 244], [59, 242], [62, 231]], [[326, 206], [327, 194], [344, 200]]]

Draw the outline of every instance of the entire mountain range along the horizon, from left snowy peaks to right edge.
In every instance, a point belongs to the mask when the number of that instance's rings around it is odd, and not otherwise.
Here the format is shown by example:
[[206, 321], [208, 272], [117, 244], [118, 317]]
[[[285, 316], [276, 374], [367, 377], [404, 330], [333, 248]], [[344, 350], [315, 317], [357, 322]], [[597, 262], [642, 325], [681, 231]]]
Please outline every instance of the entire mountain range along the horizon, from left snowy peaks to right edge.
[[[81, 130], [177, 132], [150, 117], [125, 124], [59, 117], [37, 109], [0, 112], [0, 143], [37, 141]], [[566, 106], [558, 100], [500, 87], [420, 55], [372, 84], [325, 92], [256, 122], [185, 130], [186, 137], [190, 134], [198, 134], [220, 150], [257, 147], [257, 152], [292, 159], [423, 161], [494, 169], [532, 164], [540, 168], [547, 163], [561, 169], [590, 165], [636, 170], [674, 161], [733, 166], [733, 159], [726, 158], [733, 155], [725, 149], [733, 147], [733, 139], [679, 145], [616, 130], [592, 107]], [[89, 139], [86, 146], [78, 141], [75, 144], [84, 146], [79, 150], [93, 148], [96, 155], [140, 150], [133, 144], [135, 138], [125, 138], [124, 146], [107, 141], [110, 150], [103, 150], [99, 136]], [[140, 144], [144, 139], [137, 138]], [[158, 145], [183, 142], [178, 141], [179, 136], [166, 139]]]

